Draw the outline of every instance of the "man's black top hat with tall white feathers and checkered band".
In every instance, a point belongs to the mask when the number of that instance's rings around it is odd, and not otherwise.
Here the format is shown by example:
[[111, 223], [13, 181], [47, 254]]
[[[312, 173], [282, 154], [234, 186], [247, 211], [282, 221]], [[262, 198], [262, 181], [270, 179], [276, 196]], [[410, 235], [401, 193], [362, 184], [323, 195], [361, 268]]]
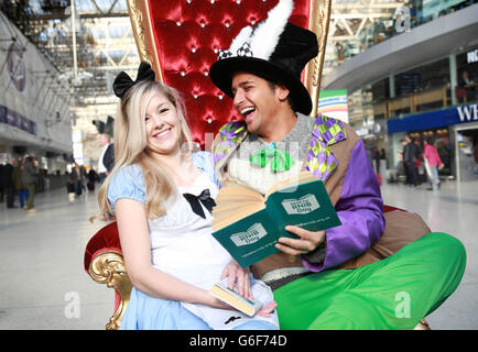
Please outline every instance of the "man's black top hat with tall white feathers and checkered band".
[[[290, 9], [284, 9], [289, 6]], [[283, 84], [290, 90], [293, 109], [308, 114], [312, 100], [301, 81], [301, 73], [318, 54], [317, 37], [313, 32], [286, 22], [291, 12], [292, 1], [281, 0], [258, 26], [242, 29], [230, 48], [220, 51], [218, 61], [210, 67], [213, 82], [233, 97], [233, 74], [251, 73], [271, 82]], [[269, 48], [264, 48], [268, 45]]]

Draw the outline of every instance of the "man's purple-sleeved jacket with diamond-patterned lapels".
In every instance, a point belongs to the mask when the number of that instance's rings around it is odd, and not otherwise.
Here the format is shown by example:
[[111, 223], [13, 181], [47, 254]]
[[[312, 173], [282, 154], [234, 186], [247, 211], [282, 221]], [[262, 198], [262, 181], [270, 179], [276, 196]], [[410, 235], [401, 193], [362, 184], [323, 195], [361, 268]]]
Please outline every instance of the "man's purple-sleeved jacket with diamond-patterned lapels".
[[[349, 138], [346, 136], [346, 130]], [[218, 174], [221, 174], [220, 169], [229, 155], [246, 135], [247, 130], [241, 122], [228, 123], [219, 130], [213, 148]], [[351, 152], [337, 153], [347, 155], [341, 158], [335, 157], [333, 145]], [[350, 154], [349, 158], [348, 154]], [[337, 173], [339, 165], [343, 170]], [[363, 142], [350, 127], [347, 125], [346, 129], [338, 120], [317, 117], [305, 169], [323, 179], [326, 186], [327, 178], [341, 177], [340, 175], [344, 174], [343, 179], [335, 179], [340, 184], [337, 188], [340, 194], [335, 209], [343, 224], [326, 230], [326, 250], [323, 260], [312, 263], [311, 260], [302, 256], [302, 265], [305, 268], [322, 272], [358, 256], [380, 239], [385, 226], [383, 200], [377, 176], [367, 158]], [[307, 257], [311, 258], [309, 255]]]

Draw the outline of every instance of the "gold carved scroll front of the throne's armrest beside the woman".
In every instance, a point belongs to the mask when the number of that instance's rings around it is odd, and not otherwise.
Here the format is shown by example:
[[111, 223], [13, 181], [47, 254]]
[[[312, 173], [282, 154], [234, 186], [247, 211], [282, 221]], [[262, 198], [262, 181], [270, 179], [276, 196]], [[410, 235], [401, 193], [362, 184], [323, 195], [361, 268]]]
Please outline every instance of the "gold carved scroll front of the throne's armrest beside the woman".
[[116, 290], [115, 312], [106, 324], [106, 329], [118, 330], [132, 289], [122, 253], [116, 250], [96, 253], [89, 264], [88, 274], [95, 282], [106, 284]]

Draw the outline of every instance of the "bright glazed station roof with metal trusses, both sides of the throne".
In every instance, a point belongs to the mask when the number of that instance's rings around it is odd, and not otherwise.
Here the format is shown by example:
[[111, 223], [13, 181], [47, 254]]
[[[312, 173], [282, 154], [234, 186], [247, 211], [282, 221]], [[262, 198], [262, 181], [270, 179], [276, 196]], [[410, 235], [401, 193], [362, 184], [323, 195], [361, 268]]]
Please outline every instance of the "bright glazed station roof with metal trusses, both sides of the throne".
[[[333, 0], [328, 45], [357, 41], [368, 24], [390, 16], [405, 1]], [[133, 72], [139, 65], [127, 0], [75, 0], [76, 47], [70, 4], [72, 0], [3, 0], [2, 12], [50, 59], [58, 77], [69, 81], [70, 106], [77, 120], [82, 119], [78, 114], [95, 118], [91, 109], [113, 114], [113, 77], [121, 70]], [[326, 62], [336, 65], [340, 61], [334, 51], [334, 46], [327, 48]], [[324, 74], [332, 68], [327, 63]]]

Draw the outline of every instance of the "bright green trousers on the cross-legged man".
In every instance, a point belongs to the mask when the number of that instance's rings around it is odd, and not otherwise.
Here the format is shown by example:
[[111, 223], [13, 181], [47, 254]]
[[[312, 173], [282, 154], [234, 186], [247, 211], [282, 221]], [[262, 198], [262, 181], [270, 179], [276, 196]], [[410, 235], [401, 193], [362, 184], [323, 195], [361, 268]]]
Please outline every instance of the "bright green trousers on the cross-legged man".
[[460, 241], [432, 232], [355, 270], [301, 277], [274, 292], [281, 329], [413, 329], [457, 288], [466, 265]]

